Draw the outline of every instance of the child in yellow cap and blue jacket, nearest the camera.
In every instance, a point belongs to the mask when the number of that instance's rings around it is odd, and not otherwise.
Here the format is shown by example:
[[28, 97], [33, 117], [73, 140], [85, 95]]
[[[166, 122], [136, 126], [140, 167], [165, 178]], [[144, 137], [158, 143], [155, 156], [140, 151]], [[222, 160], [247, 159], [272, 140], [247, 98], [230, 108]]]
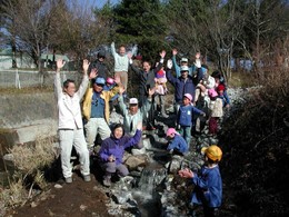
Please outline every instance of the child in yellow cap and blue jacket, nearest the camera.
[[222, 151], [216, 145], [205, 147], [201, 151], [205, 154], [205, 165], [200, 175], [188, 168], [179, 170], [179, 175], [192, 179], [195, 189], [191, 204], [202, 205], [205, 217], [211, 217], [218, 215], [218, 208], [221, 206], [222, 179], [218, 162], [221, 160]]

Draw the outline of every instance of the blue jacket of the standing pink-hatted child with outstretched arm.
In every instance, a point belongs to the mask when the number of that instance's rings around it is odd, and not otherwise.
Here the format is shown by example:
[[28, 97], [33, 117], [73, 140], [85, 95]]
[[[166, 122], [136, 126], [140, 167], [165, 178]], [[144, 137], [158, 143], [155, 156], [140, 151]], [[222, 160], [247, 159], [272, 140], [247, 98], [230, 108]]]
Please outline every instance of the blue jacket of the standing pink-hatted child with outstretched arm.
[[180, 106], [179, 111], [178, 111], [178, 119], [177, 119], [178, 125], [186, 126], [186, 127], [193, 126], [192, 125], [193, 114], [201, 115], [201, 114], [203, 114], [203, 111], [197, 109], [192, 105]]

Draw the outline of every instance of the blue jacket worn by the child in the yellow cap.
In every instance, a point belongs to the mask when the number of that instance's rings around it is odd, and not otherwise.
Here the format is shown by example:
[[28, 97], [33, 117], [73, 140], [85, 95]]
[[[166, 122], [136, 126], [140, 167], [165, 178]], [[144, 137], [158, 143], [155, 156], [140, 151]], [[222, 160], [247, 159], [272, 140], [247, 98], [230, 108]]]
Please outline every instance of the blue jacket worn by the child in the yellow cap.
[[195, 190], [191, 201], [206, 204], [209, 207], [220, 207], [222, 200], [222, 179], [219, 166], [208, 168], [203, 166], [200, 176], [193, 174]]

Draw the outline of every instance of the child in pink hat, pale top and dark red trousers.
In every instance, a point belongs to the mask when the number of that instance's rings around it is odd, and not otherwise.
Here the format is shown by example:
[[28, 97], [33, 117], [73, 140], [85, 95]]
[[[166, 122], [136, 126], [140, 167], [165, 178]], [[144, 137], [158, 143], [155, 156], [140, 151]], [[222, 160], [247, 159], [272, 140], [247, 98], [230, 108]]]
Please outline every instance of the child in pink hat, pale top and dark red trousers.
[[208, 95], [210, 97], [209, 105], [209, 134], [215, 136], [218, 131], [218, 121], [223, 116], [222, 100], [218, 98], [218, 93], [215, 89], [209, 89]]

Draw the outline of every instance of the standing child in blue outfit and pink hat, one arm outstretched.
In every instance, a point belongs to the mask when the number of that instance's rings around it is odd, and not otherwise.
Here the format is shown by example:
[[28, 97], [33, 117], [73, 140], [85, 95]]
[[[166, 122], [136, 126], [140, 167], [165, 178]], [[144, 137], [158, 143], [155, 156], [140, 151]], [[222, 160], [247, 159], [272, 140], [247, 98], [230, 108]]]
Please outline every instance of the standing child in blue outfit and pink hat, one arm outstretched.
[[191, 141], [191, 127], [195, 126], [193, 114], [202, 115], [206, 114], [191, 105], [192, 96], [190, 93], [183, 95], [182, 105], [178, 111], [177, 124], [180, 126], [180, 135], [185, 138], [190, 147]]

